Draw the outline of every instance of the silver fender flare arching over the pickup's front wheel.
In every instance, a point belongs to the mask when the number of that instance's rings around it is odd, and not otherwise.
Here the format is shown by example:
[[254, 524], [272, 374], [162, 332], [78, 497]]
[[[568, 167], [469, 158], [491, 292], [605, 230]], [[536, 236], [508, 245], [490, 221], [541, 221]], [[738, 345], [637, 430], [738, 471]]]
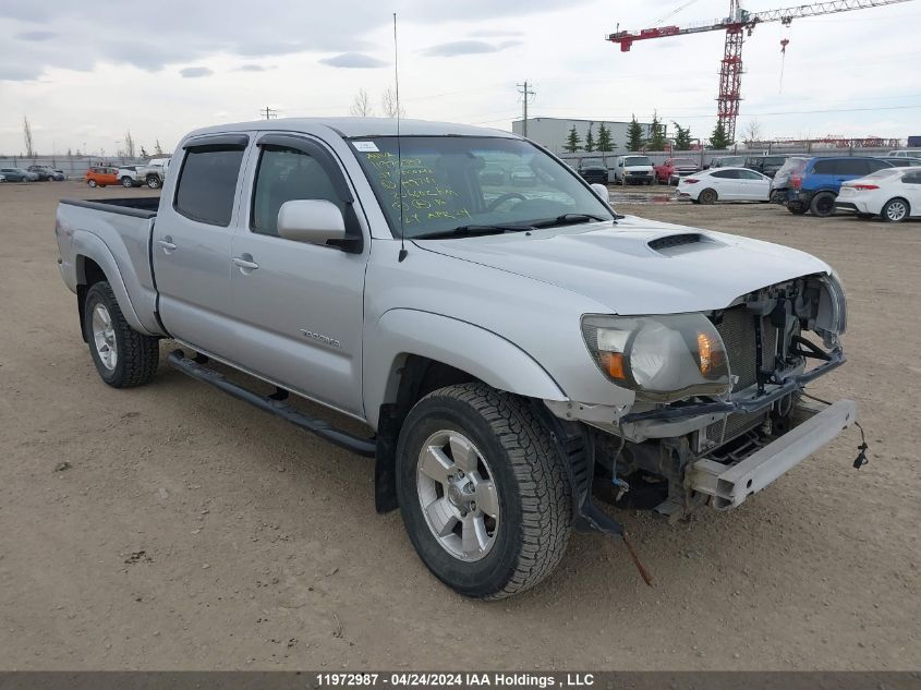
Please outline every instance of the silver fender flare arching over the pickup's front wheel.
[[385, 312], [364, 347], [364, 408], [372, 427], [381, 404], [396, 400], [400, 364], [417, 355], [453, 366], [498, 390], [544, 400], [568, 400], [553, 376], [528, 352], [486, 328], [412, 308]]

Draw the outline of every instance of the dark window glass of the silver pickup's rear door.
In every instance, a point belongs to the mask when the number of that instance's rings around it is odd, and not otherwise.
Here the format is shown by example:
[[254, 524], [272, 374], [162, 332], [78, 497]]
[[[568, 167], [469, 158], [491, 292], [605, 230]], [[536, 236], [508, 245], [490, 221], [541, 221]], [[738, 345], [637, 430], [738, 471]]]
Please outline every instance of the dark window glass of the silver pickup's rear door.
[[240, 144], [190, 146], [179, 171], [175, 211], [197, 222], [229, 226], [245, 149]]

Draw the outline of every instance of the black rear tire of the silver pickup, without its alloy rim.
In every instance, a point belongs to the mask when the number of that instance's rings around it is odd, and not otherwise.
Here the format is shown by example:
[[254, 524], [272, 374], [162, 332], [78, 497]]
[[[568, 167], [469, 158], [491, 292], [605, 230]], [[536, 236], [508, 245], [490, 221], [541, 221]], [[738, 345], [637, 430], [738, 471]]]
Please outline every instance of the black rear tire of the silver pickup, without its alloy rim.
[[[93, 311], [102, 304], [109, 313], [114, 330], [118, 360], [113, 370], [102, 364], [93, 337]], [[89, 343], [89, 354], [100, 378], [112, 388], [134, 388], [154, 378], [160, 360], [160, 344], [157, 338], [145, 336], [131, 326], [122, 314], [111, 286], [104, 281], [94, 283], [86, 292], [84, 304], [84, 328]]]

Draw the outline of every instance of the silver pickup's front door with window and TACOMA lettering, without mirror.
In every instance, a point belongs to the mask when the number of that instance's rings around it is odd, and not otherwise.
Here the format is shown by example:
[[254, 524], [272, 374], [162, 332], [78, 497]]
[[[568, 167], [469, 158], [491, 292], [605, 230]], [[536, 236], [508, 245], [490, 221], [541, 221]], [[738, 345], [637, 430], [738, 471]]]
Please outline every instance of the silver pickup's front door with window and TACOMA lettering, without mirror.
[[[252, 194], [231, 249], [238, 362], [295, 392], [364, 417], [361, 389], [368, 243], [335, 157], [317, 140], [266, 133], [250, 164]], [[365, 237], [358, 253], [278, 237], [291, 199], [326, 199]]]

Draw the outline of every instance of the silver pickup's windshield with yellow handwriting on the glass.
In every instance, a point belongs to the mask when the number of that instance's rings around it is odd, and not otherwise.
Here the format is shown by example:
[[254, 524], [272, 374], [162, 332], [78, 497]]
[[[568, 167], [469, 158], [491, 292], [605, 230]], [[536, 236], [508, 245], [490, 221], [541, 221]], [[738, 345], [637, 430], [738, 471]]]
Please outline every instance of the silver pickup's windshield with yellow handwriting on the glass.
[[614, 220], [571, 168], [529, 142], [403, 136], [399, 155], [395, 136], [351, 144], [393, 237], [400, 237], [401, 206], [408, 239], [471, 227], [529, 230], [559, 218], [571, 225], [581, 216]]

